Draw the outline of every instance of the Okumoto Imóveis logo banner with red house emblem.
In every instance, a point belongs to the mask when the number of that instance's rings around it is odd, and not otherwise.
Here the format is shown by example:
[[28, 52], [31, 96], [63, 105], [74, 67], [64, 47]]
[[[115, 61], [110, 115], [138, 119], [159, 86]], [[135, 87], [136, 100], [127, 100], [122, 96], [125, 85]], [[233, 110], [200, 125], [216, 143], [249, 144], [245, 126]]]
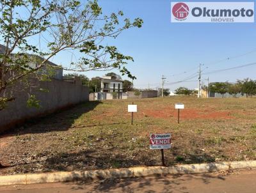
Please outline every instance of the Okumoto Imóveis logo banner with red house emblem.
[[172, 2], [171, 22], [254, 22], [254, 2]]

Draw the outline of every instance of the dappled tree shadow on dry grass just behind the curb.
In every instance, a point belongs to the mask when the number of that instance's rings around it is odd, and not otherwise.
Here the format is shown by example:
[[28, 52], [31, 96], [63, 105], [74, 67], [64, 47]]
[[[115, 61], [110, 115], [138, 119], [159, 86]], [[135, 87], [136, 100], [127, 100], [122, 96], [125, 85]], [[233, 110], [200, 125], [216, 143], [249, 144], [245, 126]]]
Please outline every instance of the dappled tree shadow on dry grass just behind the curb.
[[109, 169], [143, 165], [141, 160], [131, 159], [125, 153], [113, 153], [109, 150], [83, 150], [77, 153], [58, 153], [47, 158], [45, 171], [77, 171], [83, 169]]

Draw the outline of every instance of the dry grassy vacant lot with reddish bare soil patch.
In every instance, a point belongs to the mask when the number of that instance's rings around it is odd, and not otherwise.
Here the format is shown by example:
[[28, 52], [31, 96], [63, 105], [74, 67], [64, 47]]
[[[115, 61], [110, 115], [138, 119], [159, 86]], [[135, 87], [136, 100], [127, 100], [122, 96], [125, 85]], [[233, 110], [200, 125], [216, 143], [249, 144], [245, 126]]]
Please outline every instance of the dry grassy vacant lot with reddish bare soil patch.
[[[134, 102], [134, 125], [127, 105]], [[177, 124], [176, 102], [183, 102]], [[145, 98], [86, 102], [0, 138], [0, 174], [161, 165], [149, 134], [172, 134], [166, 164], [256, 158], [256, 99]]]

